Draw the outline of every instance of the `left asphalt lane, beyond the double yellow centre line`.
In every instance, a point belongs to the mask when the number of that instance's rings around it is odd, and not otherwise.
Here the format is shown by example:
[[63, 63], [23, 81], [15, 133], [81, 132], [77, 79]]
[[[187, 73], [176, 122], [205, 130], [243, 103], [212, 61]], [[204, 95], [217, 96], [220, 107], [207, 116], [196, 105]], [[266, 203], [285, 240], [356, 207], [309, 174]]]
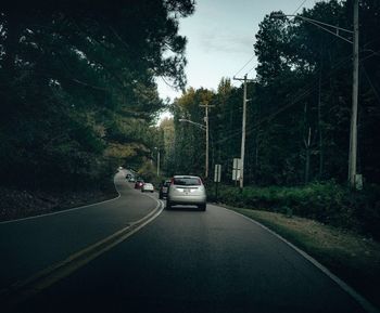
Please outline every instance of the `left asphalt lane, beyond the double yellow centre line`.
[[157, 206], [156, 200], [141, 197], [130, 187], [124, 171], [115, 175], [115, 186], [121, 197], [110, 201], [0, 223], [0, 294], [11, 284], [138, 221]]

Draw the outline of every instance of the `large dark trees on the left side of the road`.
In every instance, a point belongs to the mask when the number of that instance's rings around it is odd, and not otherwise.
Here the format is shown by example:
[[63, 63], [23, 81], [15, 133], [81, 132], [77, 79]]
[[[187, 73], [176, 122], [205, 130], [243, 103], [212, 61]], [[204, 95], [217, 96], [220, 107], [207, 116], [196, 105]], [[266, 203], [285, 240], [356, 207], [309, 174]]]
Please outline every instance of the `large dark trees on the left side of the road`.
[[[1, 184], [79, 186], [160, 144], [155, 78], [186, 83], [193, 1], [3, 1]], [[111, 170], [112, 169], [112, 170]]]

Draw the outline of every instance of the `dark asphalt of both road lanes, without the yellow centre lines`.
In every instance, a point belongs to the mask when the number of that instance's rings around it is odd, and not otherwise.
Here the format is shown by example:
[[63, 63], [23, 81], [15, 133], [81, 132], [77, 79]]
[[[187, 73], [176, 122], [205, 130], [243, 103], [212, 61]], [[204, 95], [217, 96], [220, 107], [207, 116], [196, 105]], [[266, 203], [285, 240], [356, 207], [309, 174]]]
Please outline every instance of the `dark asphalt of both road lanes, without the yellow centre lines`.
[[[56, 247], [58, 252], [55, 249], [43, 251], [46, 247], [26, 244], [25, 238], [22, 244], [17, 244], [16, 238], [4, 244], [7, 240], [2, 238], [2, 256], [4, 245], [7, 252], [13, 245], [16, 249], [24, 245], [27, 250], [13, 252], [12, 258], [7, 256], [8, 262], [1, 261], [1, 268], [3, 263], [20, 261], [30, 274], [36, 268], [43, 268], [69, 251], [99, 240], [156, 208], [154, 201], [159, 200], [141, 195], [127, 183], [119, 181], [118, 188], [121, 198], [100, 205], [102, 209], [96, 206], [75, 210], [73, 217], [67, 213], [28, 220], [33, 221], [28, 227], [39, 230], [37, 237], [51, 238], [54, 244], [49, 248]], [[79, 226], [87, 223], [84, 220], [92, 219], [92, 210], [97, 213], [89, 224], [97, 224], [99, 232]], [[75, 244], [65, 245], [64, 239], [54, 237], [56, 234], [43, 222], [47, 219], [52, 223], [51, 218], [54, 227], [63, 227], [62, 223], [68, 227], [66, 235], [76, 230]], [[23, 223], [3, 224], [0, 225], [1, 235], [4, 226], [10, 225], [16, 233], [29, 230]], [[36, 256], [38, 253], [42, 256]], [[18, 257], [28, 261], [18, 260]], [[35, 266], [26, 263], [35, 263]], [[16, 268], [20, 265], [11, 265], [10, 272]], [[10, 277], [22, 276], [20, 270], [18, 275], [5, 272], [1, 269], [8, 283], [12, 281]], [[41, 289], [14, 312], [347, 313], [364, 310], [330, 277], [277, 236], [232, 211], [208, 205], [205, 212], [192, 207], [163, 210], [131, 236]]]

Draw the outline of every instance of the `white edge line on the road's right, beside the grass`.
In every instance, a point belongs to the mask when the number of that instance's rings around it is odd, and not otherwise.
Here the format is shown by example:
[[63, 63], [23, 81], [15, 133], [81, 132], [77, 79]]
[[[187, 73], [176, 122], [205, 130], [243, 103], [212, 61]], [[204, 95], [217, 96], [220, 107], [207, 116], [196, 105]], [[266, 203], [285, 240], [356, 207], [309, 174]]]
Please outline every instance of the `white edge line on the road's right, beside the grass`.
[[217, 205], [214, 205], [218, 208], [223, 208], [227, 211], [233, 212], [249, 221], [251, 221], [254, 224], [257, 224], [258, 226], [263, 227], [270, 234], [275, 235], [277, 238], [286, 243], [288, 246], [293, 248], [296, 252], [299, 252], [302, 257], [304, 257], [307, 261], [309, 261], [313, 265], [315, 265], [317, 269], [319, 269], [321, 272], [324, 272], [328, 277], [330, 277], [335, 284], [339, 285], [345, 292], [347, 292], [352, 298], [356, 300], [360, 304], [360, 307], [369, 313], [379, 313], [380, 311], [373, 307], [367, 299], [365, 299], [363, 296], [360, 296], [358, 292], [356, 292], [352, 287], [350, 287], [346, 283], [344, 283], [341, 278], [339, 278], [337, 275], [332, 274], [327, 268], [325, 268], [322, 264], [320, 264], [316, 259], [314, 259], [312, 256], [307, 255], [305, 251], [301, 250], [296, 246], [294, 246], [292, 243], [288, 242], [286, 238], [283, 238], [281, 235], [275, 233], [273, 230], [268, 229], [267, 226], [263, 225], [262, 223], [257, 222], [256, 220], [253, 220], [249, 217], [243, 216], [242, 213], [239, 213], [235, 210], [227, 209], [225, 207], [220, 207]]

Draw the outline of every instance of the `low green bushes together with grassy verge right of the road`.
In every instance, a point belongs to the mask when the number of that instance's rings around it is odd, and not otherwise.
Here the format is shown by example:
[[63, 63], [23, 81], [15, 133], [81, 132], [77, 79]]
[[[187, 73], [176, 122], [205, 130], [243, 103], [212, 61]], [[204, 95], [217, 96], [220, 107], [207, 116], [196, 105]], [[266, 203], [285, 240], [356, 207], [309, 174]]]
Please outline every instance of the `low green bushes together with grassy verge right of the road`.
[[380, 308], [380, 188], [333, 181], [301, 186], [208, 183], [208, 199], [288, 239]]

